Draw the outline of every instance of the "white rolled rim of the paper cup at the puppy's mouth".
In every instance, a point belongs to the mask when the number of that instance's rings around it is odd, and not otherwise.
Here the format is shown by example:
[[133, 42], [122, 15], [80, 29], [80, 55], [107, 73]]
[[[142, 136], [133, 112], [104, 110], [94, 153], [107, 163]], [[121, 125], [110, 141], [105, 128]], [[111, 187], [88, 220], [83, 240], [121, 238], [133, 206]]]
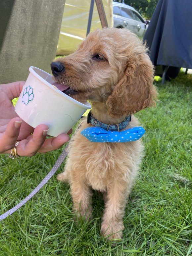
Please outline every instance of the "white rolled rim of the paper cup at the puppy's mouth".
[[66, 97], [67, 99], [71, 100], [72, 102], [74, 102], [75, 104], [77, 105], [80, 105], [81, 107], [86, 107], [87, 109], [90, 109], [91, 108], [91, 105], [88, 103], [88, 101], [86, 101], [87, 105], [86, 104], [83, 104], [75, 99], [73, 99], [72, 97], [68, 96], [67, 94], [63, 93], [62, 91], [60, 91], [59, 89], [57, 88], [54, 88], [54, 86], [52, 84], [50, 84], [49, 82], [47, 82], [45, 79], [43, 79], [43, 77], [41, 77], [40, 75], [38, 75], [35, 70], [39, 70], [43, 73], [45, 73], [47, 76], [51, 76], [49, 73], [47, 73], [46, 71], [42, 70], [42, 69], [39, 69], [37, 67], [29, 67], [29, 72], [35, 76], [37, 79], [39, 79], [41, 82], [43, 82], [45, 85], [47, 85], [49, 88], [51, 88], [52, 90], [54, 90], [55, 92], [59, 93], [61, 96], [63, 97]]

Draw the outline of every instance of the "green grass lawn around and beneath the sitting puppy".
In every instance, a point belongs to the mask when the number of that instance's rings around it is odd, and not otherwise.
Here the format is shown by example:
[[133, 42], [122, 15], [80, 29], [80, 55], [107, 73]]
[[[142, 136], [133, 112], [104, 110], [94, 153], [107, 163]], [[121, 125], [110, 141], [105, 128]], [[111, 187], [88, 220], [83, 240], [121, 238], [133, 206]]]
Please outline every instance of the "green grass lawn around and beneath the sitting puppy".
[[[191, 255], [192, 75], [161, 84], [156, 108], [137, 117], [146, 129], [146, 155], [126, 205], [123, 240], [112, 247], [100, 235], [102, 195], [93, 195], [90, 223], [73, 220], [68, 184], [56, 175], [13, 215], [0, 222], [0, 255]], [[34, 157], [0, 156], [1, 212], [24, 199], [47, 175], [63, 149]], [[64, 164], [57, 174], [62, 172]]]

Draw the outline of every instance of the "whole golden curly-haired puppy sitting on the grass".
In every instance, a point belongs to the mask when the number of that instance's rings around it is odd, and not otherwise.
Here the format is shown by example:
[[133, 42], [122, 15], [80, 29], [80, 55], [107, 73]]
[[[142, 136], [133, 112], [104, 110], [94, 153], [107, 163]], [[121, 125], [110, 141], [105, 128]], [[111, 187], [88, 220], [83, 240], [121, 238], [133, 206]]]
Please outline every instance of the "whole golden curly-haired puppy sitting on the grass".
[[[90, 33], [78, 50], [51, 64], [64, 92], [78, 101], [89, 100], [91, 115], [106, 125], [154, 106], [153, 65], [140, 39], [127, 29], [105, 28]], [[138, 127], [137, 119], [122, 130]], [[69, 182], [77, 216], [91, 218], [92, 189], [103, 192], [105, 210], [101, 233], [122, 237], [124, 209], [143, 155], [141, 139], [130, 142], [91, 142], [81, 130], [93, 127], [84, 120], [69, 146], [65, 171], [58, 180]]]

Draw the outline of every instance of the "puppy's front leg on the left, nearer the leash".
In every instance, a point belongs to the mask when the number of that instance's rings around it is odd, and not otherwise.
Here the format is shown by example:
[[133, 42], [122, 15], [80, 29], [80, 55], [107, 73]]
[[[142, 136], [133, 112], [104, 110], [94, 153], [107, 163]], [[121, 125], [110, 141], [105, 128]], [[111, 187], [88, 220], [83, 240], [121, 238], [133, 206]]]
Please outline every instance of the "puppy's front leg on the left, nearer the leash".
[[92, 218], [92, 205], [91, 205], [91, 188], [79, 179], [79, 177], [73, 178], [71, 183], [71, 195], [73, 199], [73, 210], [77, 214], [77, 218], [85, 218], [85, 220], [91, 220]]

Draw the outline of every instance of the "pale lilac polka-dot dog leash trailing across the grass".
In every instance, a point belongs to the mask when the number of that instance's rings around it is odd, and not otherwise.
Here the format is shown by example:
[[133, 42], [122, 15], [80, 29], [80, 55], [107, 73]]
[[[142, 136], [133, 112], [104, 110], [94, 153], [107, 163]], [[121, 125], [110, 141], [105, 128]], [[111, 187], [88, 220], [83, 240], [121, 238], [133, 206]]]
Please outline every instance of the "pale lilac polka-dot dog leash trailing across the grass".
[[65, 147], [65, 149], [63, 150], [63, 152], [61, 153], [61, 155], [57, 159], [57, 161], [56, 161], [55, 165], [53, 166], [53, 168], [51, 169], [51, 171], [39, 183], [39, 185], [27, 197], [25, 197], [18, 205], [16, 205], [15, 207], [10, 209], [9, 211], [7, 211], [7, 212], [3, 213], [2, 215], [0, 215], [0, 221], [4, 220], [5, 218], [7, 218], [8, 215], [13, 214], [20, 207], [22, 207], [29, 199], [31, 199], [31, 197], [33, 197], [47, 183], [47, 181], [49, 179], [51, 179], [51, 177], [56, 173], [56, 171], [58, 170], [60, 165], [63, 163], [63, 161], [67, 157], [67, 155], [68, 155], [67, 148], [68, 148], [68, 145]]

